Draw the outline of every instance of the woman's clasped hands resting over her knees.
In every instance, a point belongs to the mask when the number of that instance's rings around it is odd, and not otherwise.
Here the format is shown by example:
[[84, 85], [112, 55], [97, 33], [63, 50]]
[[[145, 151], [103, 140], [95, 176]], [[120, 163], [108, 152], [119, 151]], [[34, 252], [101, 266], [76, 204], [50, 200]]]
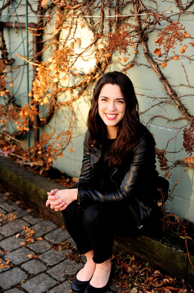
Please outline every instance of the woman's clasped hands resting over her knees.
[[48, 200], [46, 206], [50, 205], [51, 209], [55, 209], [55, 212], [66, 209], [68, 205], [74, 200], [77, 200], [78, 190], [73, 189], [53, 189], [47, 192]]

